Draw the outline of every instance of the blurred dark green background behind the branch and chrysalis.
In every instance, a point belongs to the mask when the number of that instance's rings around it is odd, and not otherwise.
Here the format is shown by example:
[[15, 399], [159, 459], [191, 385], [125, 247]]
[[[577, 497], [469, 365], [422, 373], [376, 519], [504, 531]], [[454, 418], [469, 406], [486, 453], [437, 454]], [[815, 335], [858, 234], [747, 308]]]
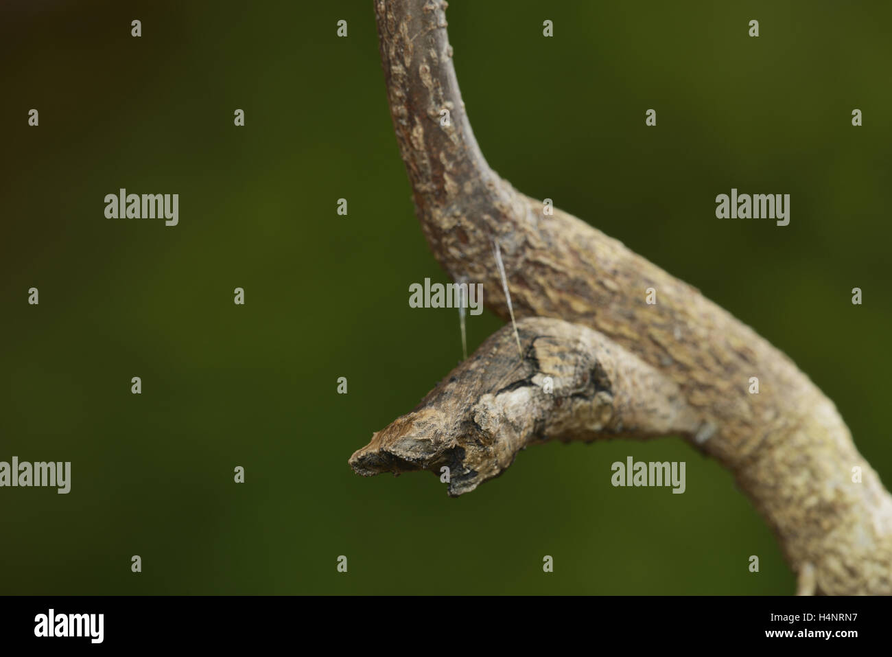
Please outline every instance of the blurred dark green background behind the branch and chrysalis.
[[[450, 4], [493, 168], [789, 353], [892, 483], [892, 4]], [[677, 438], [535, 447], [458, 499], [351, 472], [461, 358], [455, 312], [409, 308], [446, 277], [371, 2], [7, 0], [0, 52], [0, 461], [72, 462], [70, 495], [0, 489], [0, 593], [794, 591], [731, 474]], [[179, 225], [105, 219], [119, 187], [178, 193]], [[731, 187], [789, 193], [789, 227], [715, 219]], [[469, 318], [469, 348], [499, 326]], [[687, 462], [687, 492], [611, 487], [627, 455]]]

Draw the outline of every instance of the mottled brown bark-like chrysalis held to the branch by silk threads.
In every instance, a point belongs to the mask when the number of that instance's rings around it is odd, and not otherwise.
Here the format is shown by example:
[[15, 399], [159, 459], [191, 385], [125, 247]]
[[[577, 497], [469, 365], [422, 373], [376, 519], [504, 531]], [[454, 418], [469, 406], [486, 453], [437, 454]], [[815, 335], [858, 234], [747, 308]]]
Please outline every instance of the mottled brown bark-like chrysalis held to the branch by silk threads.
[[[607, 437], [693, 438], [679, 387], [597, 331], [562, 320], [507, 326], [407, 415], [353, 454], [361, 475], [450, 469], [450, 495], [497, 477], [527, 445]], [[549, 380], [550, 378], [550, 380]]]

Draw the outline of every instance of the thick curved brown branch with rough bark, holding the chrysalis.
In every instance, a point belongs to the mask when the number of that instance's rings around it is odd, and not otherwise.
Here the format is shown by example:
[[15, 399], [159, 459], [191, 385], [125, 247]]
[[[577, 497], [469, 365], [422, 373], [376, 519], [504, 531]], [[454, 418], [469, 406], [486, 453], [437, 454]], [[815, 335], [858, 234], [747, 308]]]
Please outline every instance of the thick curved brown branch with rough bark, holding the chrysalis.
[[[489, 168], [458, 92], [445, 8], [442, 0], [376, 0], [393, 126], [438, 262], [453, 279], [483, 283], [487, 307], [508, 320], [492, 255], [497, 240], [516, 317], [594, 328], [601, 342], [585, 335], [596, 349], [590, 353], [595, 362], [610, 362], [598, 348], [621, 347], [640, 362], [636, 367], [649, 366], [640, 371], [660, 390], [667, 383], [678, 388], [698, 418], [695, 442], [734, 473], [800, 574], [803, 593], [892, 594], [892, 498], [855, 449], [833, 403], [786, 355], [696, 288], [566, 212], [544, 215], [540, 201], [516, 192]], [[448, 125], [442, 125], [443, 109]], [[649, 287], [657, 304], [645, 301]], [[529, 341], [530, 325], [524, 326]], [[535, 369], [528, 358], [518, 363], [513, 348], [518, 367]], [[574, 349], [566, 354], [567, 362], [581, 357]], [[461, 376], [480, 371], [468, 368], [459, 368]], [[759, 378], [757, 395], [747, 392], [750, 377]], [[482, 382], [478, 404], [493, 394], [488, 386]], [[662, 403], [657, 390], [640, 395], [645, 406]], [[438, 387], [414, 417], [407, 416], [411, 420], [394, 424], [423, 441], [422, 415], [445, 413], [429, 425], [442, 431], [450, 408], [450, 394]], [[540, 420], [553, 421], [546, 406], [541, 409]], [[385, 429], [376, 439], [398, 430]], [[417, 465], [432, 457], [396, 458]], [[863, 472], [861, 483], [852, 481], [855, 467]], [[474, 487], [485, 478], [467, 481]]]

